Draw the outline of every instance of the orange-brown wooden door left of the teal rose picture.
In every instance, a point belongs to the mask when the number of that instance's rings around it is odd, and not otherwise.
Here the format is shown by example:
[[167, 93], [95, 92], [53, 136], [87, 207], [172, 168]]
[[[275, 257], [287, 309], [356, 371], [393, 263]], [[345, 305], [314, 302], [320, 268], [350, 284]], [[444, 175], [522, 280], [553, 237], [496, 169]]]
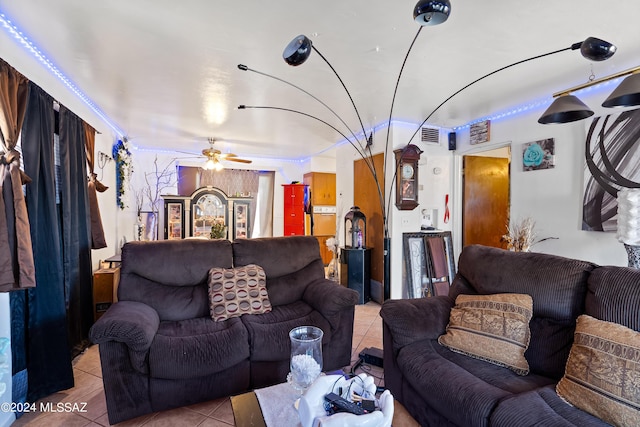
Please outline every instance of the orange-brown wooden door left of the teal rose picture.
[[464, 156], [462, 246], [506, 248], [509, 221], [509, 159]]

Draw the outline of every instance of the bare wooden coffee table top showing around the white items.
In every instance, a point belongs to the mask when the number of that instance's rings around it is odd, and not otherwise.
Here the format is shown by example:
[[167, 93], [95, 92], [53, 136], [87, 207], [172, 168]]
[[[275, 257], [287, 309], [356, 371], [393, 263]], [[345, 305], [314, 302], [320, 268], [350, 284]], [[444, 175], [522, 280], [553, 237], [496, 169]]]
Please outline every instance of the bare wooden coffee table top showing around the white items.
[[[266, 427], [262, 409], [255, 392], [250, 391], [231, 396], [231, 407], [236, 427]], [[292, 420], [291, 426], [299, 425], [299, 420]], [[407, 412], [397, 400], [394, 402], [393, 427], [420, 427], [420, 424]]]

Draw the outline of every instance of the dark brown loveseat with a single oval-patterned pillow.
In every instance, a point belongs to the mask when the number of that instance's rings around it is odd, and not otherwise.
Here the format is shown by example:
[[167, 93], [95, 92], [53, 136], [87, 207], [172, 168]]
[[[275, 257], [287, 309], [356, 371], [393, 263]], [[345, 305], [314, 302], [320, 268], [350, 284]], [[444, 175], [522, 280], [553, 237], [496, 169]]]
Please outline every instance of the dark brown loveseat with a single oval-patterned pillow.
[[[213, 321], [209, 269], [247, 264], [272, 311]], [[358, 296], [325, 280], [314, 237], [127, 243], [118, 299], [90, 331], [112, 424], [283, 382], [296, 326], [324, 331], [325, 370], [350, 363]]]

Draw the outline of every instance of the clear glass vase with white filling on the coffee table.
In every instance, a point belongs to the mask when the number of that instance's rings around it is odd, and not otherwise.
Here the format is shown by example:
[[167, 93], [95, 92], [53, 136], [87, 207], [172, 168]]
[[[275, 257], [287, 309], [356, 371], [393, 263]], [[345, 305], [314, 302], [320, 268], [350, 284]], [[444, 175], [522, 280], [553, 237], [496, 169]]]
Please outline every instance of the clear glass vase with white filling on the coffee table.
[[291, 372], [287, 382], [304, 392], [322, 372], [322, 329], [299, 326], [289, 332], [291, 340]]

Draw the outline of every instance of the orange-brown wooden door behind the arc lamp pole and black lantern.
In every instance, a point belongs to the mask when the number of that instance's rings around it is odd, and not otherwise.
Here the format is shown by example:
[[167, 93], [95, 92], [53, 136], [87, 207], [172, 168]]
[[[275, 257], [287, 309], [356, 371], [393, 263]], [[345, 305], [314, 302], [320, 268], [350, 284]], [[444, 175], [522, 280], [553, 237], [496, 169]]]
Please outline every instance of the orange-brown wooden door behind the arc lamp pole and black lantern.
[[[382, 173], [384, 154], [373, 156], [373, 164], [378, 172], [380, 188], [384, 194], [384, 176]], [[384, 228], [382, 208], [378, 197], [378, 187], [364, 160], [353, 162], [353, 202], [367, 217], [367, 235], [365, 246], [371, 248], [371, 279], [382, 283], [384, 280]], [[344, 242], [343, 242], [344, 243]]]

